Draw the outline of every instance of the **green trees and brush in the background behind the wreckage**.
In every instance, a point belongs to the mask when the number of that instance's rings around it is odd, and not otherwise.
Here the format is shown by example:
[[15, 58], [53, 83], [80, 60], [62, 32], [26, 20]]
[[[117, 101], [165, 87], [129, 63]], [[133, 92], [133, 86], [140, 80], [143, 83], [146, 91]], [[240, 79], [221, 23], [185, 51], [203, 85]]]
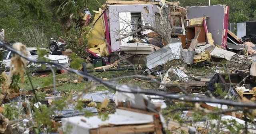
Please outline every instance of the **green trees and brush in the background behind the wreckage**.
[[[179, 1], [185, 7], [208, 5], [208, 0]], [[36, 29], [44, 34], [44, 40], [60, 36], [75, 47], [82, 30], [77, 25], [80, 12], [88, 8], [93, 19], [92, 10], [98, 10], [103, 4], [105, 0], [1, 0], [0, 28], [6, 30], [4, 41], [27, 44], [24, 36], [27, 36], [27, 31]], [[256, 0], [211, 0], [211, 5], [216, 4], [230, 6], [229, 23], [256, 19]]]

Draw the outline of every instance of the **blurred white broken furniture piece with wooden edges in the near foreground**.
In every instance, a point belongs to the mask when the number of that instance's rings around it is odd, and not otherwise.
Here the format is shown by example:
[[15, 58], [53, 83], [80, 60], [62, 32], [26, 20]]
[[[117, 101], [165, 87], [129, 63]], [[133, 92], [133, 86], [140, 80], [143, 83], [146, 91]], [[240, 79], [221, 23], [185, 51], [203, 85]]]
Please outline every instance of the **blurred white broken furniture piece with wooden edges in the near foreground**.
[[[117, 89], [131, 91], [126, 85], [117, 87]], [[160, 112], [164, 103], [151, 102], [144, 94], [116, 91], [115, 96], [116, 112], [115, 114], [109, 114], [107, 120], [103, 121], [98, 116], [62, 118], [64, 132], [69, 132], [70, 134], [97, 134], [98, 132], [101, 134], [138, 132], [162, 134], [165, 123]], [[126, 101], [123, 102], [124, 100]], [[147, 104], [144, 103], [145, 101]], [[68, 129], [70, 130], [66, 131]]]

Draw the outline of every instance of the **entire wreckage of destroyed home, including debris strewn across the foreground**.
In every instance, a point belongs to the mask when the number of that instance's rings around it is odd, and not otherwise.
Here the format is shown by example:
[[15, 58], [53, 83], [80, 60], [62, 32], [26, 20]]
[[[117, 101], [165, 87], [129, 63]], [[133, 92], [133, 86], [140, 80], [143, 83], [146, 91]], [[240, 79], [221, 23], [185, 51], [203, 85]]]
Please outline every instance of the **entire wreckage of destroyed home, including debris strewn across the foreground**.
[[[80, 76], [74, 81], [68, 78], [55, 80], [53, 72], [54, 85], [49, 87], [26, 91], [22, 79], [20, 90], [7, 90], [13, 75], [26, 75], [26, 71], [21, 69], [22, 63], [40, 61], [28, 58], [23, 44], [15, 43], [10, 47], [1, 42], [0, 45], [5, 49], [15, 53], [10, 58], [9, 74], [2, 73], [6, 81], [1, 82], [1, 89], [6, 90], [6, 94], [2, 94], [1, 99], [3, 102], [18, 99], [18, 104], [12, 106], [24, 110], [18, 114], [18, 119], [13, 120], [0, 114], [0, 132], [12, 127], [28, 134], [32, 131], [27, 125], [30, 122], [33, 127], [44, 127], [44, 133], [59, 134], [163, 134], [166, 131], [189, 134], [256, 133], [255, 44], [247, 42], [250, 40], [242, 41], [228, 30], [228, 6], [183, 8], [178, 5], [179, 2], [167, 1], [108, 0], [98, 11], [93, 11], [95, 16], [92, 24], [88, 23], [90, 12], [84, 12], [82, 17], [86, 23], [82, 35], [88, 40], [88, 62], [82, 63], [78, 70], [72, 67], [66, 69], [60, 61], [47, 62], [64, 69], [64, 73]], [[113, 61], [115, 52], [120, 52], [124, 58]], [[68, 51], [59, 53], [70, 55]], [[7, 57], [10, 57], [10, 53]], [[87, 68], [90, 62], [94, 65], [93, 70]], [[120, 62], [142, 63], [146, 66], [118, 67]], [[209, 72], [192, 70], [192, 66], [206, 68]], [[52, 70], [52, 66], [49, 68]], [[128, 70], [142, 70], [146, 75], [121, 76], [109, 80], [90, 75], [95, 72]], [[117, 79], [126, 78], [140, 81], [140, 85], [157, 83], [158, 87], [144, 90], [131, 82], [127, 85], [116, 82]], [[62, 84], [56, 85], [56, 81]], [[72, 89], [67, 98], [62, 92], [56, 91], [56, 87], [86, 81], [92, 81], [88, 90], [77, 92]], [[31, 80], [30, 83], [32, 85]], [[88, 93], [96, 85], [104, 85], [115, 92]], [[36, 92], [49, 89], [53, 89], [53, 95], [36, 97]], [[58, 106], [55, 102], [62, 99], [66, 99], [62, 102], [66, 106], [54, 109]], [[77, 109], [79, 101], [82, 101], [80, 110]], [[109, 104], [114, 107], [114, 112], [108, 114], [107, 118], [100, 118], [110, 110], [107, 108]], [[8, 102], [4, 105], [7, 106]], [[31, 121], [34, 114], [43, 110], [44, 105], [50, 109], [49, 113], [53, 112], [49, 116], [51, 130], [44, 126], [47, 122], [37, 126], [39, 123]], [[168, 109], [170, 107], [176, 109]], [[2, 105], [0, 113], [1, 108]], [[176, 113], [179, 113], [178, 117], [168, 116]]]

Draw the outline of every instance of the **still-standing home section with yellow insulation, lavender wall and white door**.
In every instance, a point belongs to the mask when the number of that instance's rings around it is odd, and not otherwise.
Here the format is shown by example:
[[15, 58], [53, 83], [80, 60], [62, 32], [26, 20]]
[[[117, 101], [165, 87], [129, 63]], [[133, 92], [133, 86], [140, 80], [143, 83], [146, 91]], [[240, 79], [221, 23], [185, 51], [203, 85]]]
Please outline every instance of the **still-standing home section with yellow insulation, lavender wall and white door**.
[[[170, 23], [169, 20], [173, 21], [172, 30], [176, 34], [172, 35], [175, 37], [172, 40], [182, 42], [182, 46], [185, 46], [186, 9], [178, 4], [179, 2], [167, 1], [106, 1], [99, 11], [93, 11], [96, 13], [93, 21], [94, 27], [89, 36], [86, 35], [89, 50], [103, 57], [115, 51], [146, 55], [157, 51], [166, 45], [162, 36], [156, 38], [157, 31], [163, 28], [160, 10], [165, 16], [170, 15], [170, 18], [167, 17], [168, 23]], [[142, 27], [146, 28], [140, 30]], [[139, 32], [136, 32], [138, 30]], [[135, 33], [125, 37], [132, 32]], [[120, 39], [122, 37], [123, 39]]]

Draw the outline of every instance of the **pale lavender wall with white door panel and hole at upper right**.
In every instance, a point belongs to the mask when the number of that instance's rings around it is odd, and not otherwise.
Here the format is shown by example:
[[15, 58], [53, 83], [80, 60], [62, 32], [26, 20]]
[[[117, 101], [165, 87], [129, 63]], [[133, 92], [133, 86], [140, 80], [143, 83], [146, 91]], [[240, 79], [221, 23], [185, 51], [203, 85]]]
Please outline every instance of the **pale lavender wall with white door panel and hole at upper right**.
[[[146, 7], [146, 8], [145, 8]], [[110, 39], [112, 51], [120, 48], [122, 43], [131, 40], [127, 37], [121, 41], [116, 41], [122, 37], [118, 34], [128, 34], [132, 31], [131, 13], [141, 13], [142, 25], [155, 27], [155, 13], [159, 13], [157, 5], [154, 4], [138, 4], [138, 5], [110, 5], [108, 8], [110, 19]]]

